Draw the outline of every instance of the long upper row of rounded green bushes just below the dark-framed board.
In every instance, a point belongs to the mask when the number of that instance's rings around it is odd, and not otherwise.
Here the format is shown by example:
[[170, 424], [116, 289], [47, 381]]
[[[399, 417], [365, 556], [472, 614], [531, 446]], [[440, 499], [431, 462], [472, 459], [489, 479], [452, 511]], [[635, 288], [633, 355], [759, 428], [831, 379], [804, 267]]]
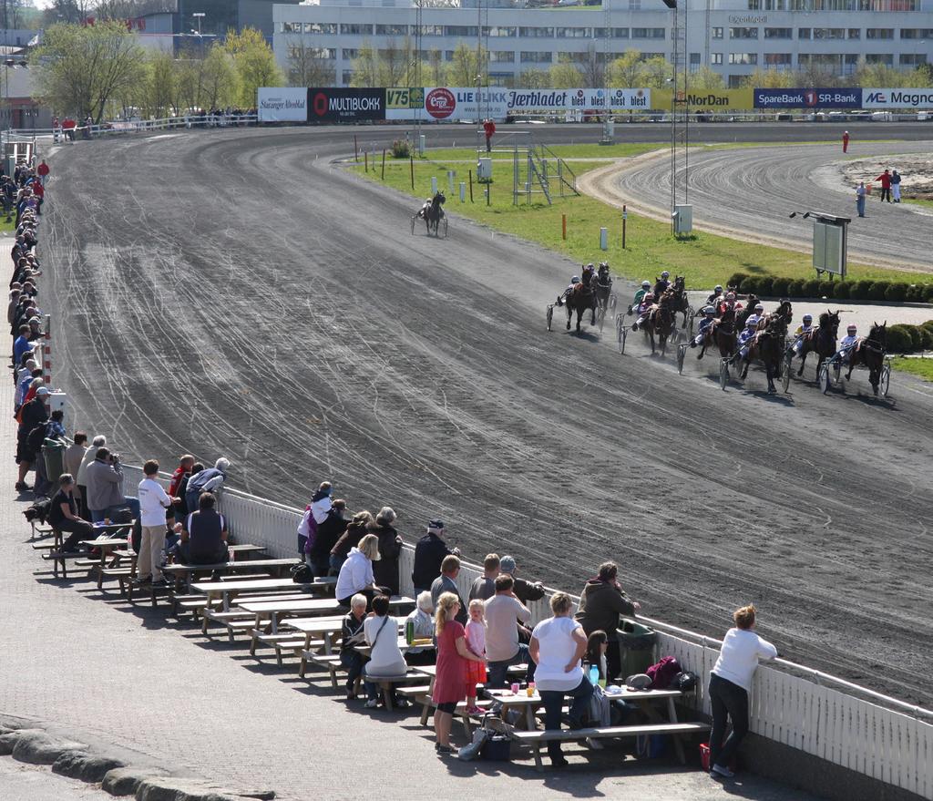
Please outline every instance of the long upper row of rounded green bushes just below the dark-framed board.
[[728, 286], [738, 287], [745, 294], [771, 298], [933, 303], [933, 284], [905, 284], [898, 281], [818, 281], [815, 278], [801, 280], [735, 273], [730, 276]]

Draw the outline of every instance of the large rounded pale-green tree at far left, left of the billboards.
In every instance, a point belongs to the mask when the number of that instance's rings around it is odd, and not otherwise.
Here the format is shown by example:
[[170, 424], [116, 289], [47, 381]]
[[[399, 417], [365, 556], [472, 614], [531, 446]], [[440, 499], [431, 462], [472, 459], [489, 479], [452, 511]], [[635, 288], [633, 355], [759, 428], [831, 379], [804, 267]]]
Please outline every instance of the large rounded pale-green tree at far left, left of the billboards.
[[126, 25], [59, 23], [33, 54], [39, 94], [61, 112], [104, 116], [107, 102], [145, 80], [145, 54]]

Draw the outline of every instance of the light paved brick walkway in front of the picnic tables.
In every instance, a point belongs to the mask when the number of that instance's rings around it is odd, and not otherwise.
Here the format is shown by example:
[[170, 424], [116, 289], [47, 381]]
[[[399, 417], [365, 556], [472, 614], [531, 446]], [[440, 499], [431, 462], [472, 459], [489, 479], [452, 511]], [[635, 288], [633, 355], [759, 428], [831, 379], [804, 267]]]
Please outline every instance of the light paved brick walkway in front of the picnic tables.
[[[10, 409], [10, 385], [0, 386], [0, 408]], [[0, 419], [0, 442], [11, 454], [14, 422], [11, 415]], [[7, 540], [0, 713], [48, 721], [91, 745], [116, 745], [176, 772], [271, 788], [302, 801], [373, 793], [433, 801], [441, 786], [445, 794], [478, 799], [807, 798], [755, 777], [723, 786], [694, 767], [623, 761], [613, 751], [571, 755], [571, 768], [559, 774], [538, 774], [530, 761], [441, 759], [414, 714], [370, 714], [361, 701], [348, 709], [327, 682], [300, 681], [294, 663], [282, 670], [274, 660], [260, 664], [242, 642], [205, 641], [200, 628], [147, 605], [132, 608], [116, 591], [101, 595], [82, 577], [56, 582], [29, 546], [21, 511], [30, 499], [13, 493], [13, 467], [12, 457], [0, 462], [0, 526]], [[10, 769], [0, 768], [0, 784]], [[17, 782], [28, 791], [8, 797], [94, 797], [68, 794], [73, 791], [60, 790], [52, 778], [43, 785], [21, 774]]]

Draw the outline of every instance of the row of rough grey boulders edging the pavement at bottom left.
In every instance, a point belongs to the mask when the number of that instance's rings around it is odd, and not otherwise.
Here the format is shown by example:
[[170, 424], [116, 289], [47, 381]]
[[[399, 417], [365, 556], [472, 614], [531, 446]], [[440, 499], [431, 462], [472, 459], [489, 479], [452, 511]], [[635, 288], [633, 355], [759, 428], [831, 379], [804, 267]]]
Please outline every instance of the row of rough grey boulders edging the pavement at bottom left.
[[0, 756], [29, 765], [49, 765], [53, 773], [92, 784], [101, 782], [111, 795], [133, 795], [136, 801], [237, 801], [275, 798], [272, 790], [234, 790], [210, 782], [170, 776], [167, 770], [133, 768], [104, 753], [91, 753], [77, 740], [49, 734], [35, 724], [0, 724]]

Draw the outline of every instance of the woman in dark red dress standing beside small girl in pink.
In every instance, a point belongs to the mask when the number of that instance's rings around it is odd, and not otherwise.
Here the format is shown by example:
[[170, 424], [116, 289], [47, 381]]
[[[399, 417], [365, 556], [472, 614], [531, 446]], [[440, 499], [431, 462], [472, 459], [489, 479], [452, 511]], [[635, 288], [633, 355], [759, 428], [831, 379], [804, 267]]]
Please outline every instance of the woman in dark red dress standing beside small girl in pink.
[[466, 662], [479, 662], [480, 657], [466, 647], [466, 631], [457, 617], [460, 598], [454, 593], [442, 593], [435, 612], [435, 635], [438, 638], [438, 669], [434, 680], [435, 751], [453, 753], [451, 723], [457, 704], [466, 698]]

